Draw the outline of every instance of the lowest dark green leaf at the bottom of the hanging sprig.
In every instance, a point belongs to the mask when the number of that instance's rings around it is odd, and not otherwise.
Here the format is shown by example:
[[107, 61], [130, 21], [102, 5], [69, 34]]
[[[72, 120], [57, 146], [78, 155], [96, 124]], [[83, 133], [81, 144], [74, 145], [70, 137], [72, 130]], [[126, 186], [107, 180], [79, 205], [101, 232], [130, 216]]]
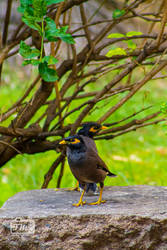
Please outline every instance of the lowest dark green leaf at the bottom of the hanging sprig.
[[47, 62], [40, 63], [38, 66], [39, 74], [42, 79], [46, 82], [55, 82], [58, 80], [58, 75], [56, 70], [48, 67]]

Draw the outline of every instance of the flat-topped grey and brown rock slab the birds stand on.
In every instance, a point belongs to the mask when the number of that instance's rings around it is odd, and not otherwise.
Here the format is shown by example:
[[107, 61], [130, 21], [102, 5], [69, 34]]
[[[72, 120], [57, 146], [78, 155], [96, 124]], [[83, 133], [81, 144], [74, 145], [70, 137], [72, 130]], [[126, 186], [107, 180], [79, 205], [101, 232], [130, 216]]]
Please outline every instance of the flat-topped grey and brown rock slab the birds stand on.
[[65, 189], [16, 194], [0, 209], [0, 249], [167, 249], [167, 187], [105, 187], [105, 204], [73, 207], [79, 197]]

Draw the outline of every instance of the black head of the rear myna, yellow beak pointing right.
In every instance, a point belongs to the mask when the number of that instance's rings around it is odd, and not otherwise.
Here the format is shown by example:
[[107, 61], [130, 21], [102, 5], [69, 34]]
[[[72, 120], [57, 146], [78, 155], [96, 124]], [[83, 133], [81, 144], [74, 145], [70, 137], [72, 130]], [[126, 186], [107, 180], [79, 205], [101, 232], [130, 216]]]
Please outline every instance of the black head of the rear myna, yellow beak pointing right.
[[83, 124], [77, 134], [93, 138], [93, 136], [95, 136], [102, 129], [107, 129], [107, 127], [97, 122], [87, 122]]

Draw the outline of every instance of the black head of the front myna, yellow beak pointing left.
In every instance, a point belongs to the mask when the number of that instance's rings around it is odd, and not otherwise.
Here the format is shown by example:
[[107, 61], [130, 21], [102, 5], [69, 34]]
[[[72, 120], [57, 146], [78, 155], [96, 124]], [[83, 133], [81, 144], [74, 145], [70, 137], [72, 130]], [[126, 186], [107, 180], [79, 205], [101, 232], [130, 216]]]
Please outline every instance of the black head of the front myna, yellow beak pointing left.
[[84, 143], [83, 139], [81, 138], [81, 136], [79, 136], [79, 135], [73, 135], [73, 136], [66, 137], [63, 140], [61, 140], [59, 142], [59, 144], [67, 145], [67, 147], [70, 147], [70, 148], [83, 148], [83, 147], [85, 147], [85, 143]]

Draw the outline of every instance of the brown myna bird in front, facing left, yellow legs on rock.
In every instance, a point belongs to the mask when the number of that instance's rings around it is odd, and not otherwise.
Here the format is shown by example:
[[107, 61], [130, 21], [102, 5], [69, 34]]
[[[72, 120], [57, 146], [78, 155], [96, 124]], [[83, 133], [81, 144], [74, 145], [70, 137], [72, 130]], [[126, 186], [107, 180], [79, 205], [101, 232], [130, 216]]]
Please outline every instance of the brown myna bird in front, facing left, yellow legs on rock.
[[73, 205], [78, 207], [85, 204], [82, 199], [87, 183], [100, 183], [99, 199], [97, 202], [90, 203], [90, 205], [99, 205], [105, 202], [102, 200], [104, 179], [106, 176], [114, 177], [116, 175], [108, 170], [104, 161], [99, 157], [93, 148], [87, 147], [84, 136], [69, 136], [61, 140], [59, 143], [67, 145], [67, 158], [70, 169], [75, 178], [83, 186], [83, 192], [79, 202]]

